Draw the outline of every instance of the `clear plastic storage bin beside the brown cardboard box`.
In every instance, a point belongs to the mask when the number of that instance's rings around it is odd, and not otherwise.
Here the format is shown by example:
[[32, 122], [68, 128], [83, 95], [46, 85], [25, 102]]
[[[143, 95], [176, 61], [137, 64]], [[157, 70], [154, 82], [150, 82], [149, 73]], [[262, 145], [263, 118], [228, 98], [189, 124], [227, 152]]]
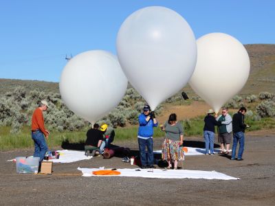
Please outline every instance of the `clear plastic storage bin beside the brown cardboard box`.
[[17, 173], [38, 173], [39, 157], [17, 157]]

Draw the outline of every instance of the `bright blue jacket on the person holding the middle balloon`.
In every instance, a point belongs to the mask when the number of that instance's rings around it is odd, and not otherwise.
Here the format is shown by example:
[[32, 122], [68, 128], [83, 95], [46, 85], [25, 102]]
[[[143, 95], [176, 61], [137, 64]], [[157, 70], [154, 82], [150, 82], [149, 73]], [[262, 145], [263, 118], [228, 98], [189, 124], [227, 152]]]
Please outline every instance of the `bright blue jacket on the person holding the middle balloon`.
[[137, 135], [140, 137], [152, 137], [154, 133], [153, 127], [156, 127], [158, 124], [154, 124], [153, 119], [150, 119], [147, 122], [146, 117], [147, 116], [145, 116], [144, 113], [141, 113], [140, 116], [138, 116], [140, 127], [138, 128]]

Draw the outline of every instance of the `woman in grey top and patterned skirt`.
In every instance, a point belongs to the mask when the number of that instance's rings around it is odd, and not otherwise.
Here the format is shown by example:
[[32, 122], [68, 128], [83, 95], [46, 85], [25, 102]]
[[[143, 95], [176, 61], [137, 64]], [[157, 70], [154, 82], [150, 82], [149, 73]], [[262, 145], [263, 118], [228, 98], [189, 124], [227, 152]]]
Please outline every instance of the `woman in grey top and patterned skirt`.
[[173, 161], [174, 170], [177, 170], [177, 162], [184, 160], [184, 152], [179, 149], [184, 143], [184, 128], [177, 122], [177, 115], [173, 113], [161, 129], [166, 133], [162, 144], [162, 159], [168, 161], [168, 169], [172, 168]]

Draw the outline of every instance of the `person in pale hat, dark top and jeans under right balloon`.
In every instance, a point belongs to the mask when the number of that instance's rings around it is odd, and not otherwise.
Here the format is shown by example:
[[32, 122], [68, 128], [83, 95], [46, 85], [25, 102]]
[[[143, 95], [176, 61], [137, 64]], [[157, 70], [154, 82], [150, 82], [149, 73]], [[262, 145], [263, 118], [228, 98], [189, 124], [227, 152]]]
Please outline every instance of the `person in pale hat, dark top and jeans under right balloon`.
[[214, 155], [214, 126], [218, 125], [215, 117], [213, 117], [214, 111], [210, 109], [204, 117], [204, 127], [203, 127], [203, 137], [206, 144], [206, 155], [209, 155], [209, 148], [210, 148], [210, 155]]

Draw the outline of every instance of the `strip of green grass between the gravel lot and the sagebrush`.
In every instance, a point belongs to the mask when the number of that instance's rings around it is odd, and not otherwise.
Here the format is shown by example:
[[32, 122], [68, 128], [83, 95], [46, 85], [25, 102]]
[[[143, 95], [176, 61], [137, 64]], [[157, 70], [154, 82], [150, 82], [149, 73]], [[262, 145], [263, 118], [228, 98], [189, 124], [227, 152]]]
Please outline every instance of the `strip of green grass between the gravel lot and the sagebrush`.
[[[245, 123], [251, 127], [248, 129], [261, 130], [275, 128], [275, 118], [262, 118], [260, 121], [254, 121], [248, 117]], [[182, 122], [184, 124], [184, 135], [203, 136], [203, 116], [188, 119]], [[137, 126], [115, 129], [115, 141], [135, 140], [137, 138]], [[51, 131], [50, 138], [47, 140], [49, 148], [60, 147], [63, 144], [83, 144], [86, 139], [86, 130], [74, 132]], [[154, 137], [164, 137], [159, 127], [155, 128]], [[29, 127], [23, 127], [21, 133], [17, 135], [10, 134], [10, 127], [0, 127], [0, 150], [12, 150], [17, 148], [31, 148], [33, 141]]]

